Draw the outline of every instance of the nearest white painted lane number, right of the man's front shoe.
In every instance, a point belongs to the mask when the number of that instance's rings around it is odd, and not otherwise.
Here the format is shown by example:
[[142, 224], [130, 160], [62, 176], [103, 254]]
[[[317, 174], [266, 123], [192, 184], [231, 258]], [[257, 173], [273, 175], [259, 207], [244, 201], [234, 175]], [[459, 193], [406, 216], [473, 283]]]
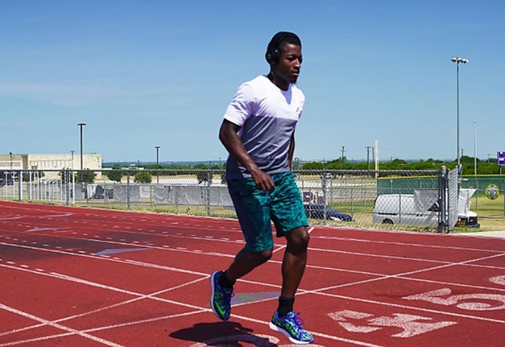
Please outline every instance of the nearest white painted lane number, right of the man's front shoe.
[[413, 337], [433, 330], [445, 328], [456, 324], [451, 321], [433, 322], [433, 319], [413, 314], [395, 313], [393, 316], [373, 317], [373, 314], [356, 312], [350, 310], [329, 313], [328, 316], [337, 321], [342, 328], [348, 332], [368, 333], [381, 330], [382, 328], [392, 327], [400, 328], [398, 332], [391, 337]]

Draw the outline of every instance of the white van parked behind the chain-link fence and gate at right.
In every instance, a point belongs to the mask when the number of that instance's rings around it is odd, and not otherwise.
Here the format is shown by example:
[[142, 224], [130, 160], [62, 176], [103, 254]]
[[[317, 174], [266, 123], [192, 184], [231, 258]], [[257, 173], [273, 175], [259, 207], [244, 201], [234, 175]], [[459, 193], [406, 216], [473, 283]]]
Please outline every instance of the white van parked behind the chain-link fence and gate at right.
[[[460, 189], [458, 226], [479, 228], [477, 213], [470, 211], [470, 198], [476, 189]], [[407, 226], [438, 226], [438, 192], [431, 189], [415, 190], [414, 194], [382, 194], [373, 208], [373, 222]]]

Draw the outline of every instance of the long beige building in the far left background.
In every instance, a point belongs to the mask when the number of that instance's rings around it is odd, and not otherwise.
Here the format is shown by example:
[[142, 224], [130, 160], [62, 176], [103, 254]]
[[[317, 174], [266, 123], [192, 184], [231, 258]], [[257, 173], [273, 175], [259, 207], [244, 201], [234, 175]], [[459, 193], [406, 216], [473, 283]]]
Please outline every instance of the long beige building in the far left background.
[[[61, 170], [80, 169], [80, 153], [72, 154], [0, 154], [0, 170]], [[83, 153], [83, 169], [101, 170], [102, 156], [96, 153]], [[57, 177], [57, 172], [47, 172], [46, 177]], [[97, 178], [101, 177], [98, 172]]]

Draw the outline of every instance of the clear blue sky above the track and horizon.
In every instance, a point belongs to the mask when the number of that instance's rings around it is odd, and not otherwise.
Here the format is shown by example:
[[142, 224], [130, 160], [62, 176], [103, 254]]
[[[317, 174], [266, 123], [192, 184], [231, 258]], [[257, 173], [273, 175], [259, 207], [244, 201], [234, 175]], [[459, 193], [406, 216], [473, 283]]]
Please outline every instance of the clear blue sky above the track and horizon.
[[277, 31], [302, 39], [302, 160], [505, 151], [504, 1], [0, 0], [0, 153], [218, 160], [237, 87], [268, 72]]

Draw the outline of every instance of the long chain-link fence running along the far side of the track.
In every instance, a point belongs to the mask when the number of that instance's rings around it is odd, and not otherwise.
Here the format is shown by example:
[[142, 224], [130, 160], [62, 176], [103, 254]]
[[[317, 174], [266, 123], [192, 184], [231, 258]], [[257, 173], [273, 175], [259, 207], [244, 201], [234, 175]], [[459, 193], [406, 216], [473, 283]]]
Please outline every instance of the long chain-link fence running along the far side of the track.
[[[311, 224], [408, 230], [436, 230], [441, 224], [448, 224], [448, 206], [443, 202], [449, 185], [441, 189], [441, 180], [447, 179], [442, 171], [293, 173]], [[15, 201], [236, 217], [224, 170], [28, 170], [4, 171], [0, 178], [0, 198]], [[465, 189], [468, 182], [463, 180], [461, 187]], [[481, 195], [478, 192], [478, 198]], [[462, 204], [460, 198], [460, 224], [471, 224], [470, 203], [469, 200]], [[505, 201], [502, 203], [501, 219], [498, 211], [493, 218], [503, 223], [485, 230], [505, 230]], [[483, 202], [479, 205], [483, 206]], [[485, 226], [486, 218], [479, 215], [481, 226]], [[476, 224], [477, 217], [471, 221]]]

